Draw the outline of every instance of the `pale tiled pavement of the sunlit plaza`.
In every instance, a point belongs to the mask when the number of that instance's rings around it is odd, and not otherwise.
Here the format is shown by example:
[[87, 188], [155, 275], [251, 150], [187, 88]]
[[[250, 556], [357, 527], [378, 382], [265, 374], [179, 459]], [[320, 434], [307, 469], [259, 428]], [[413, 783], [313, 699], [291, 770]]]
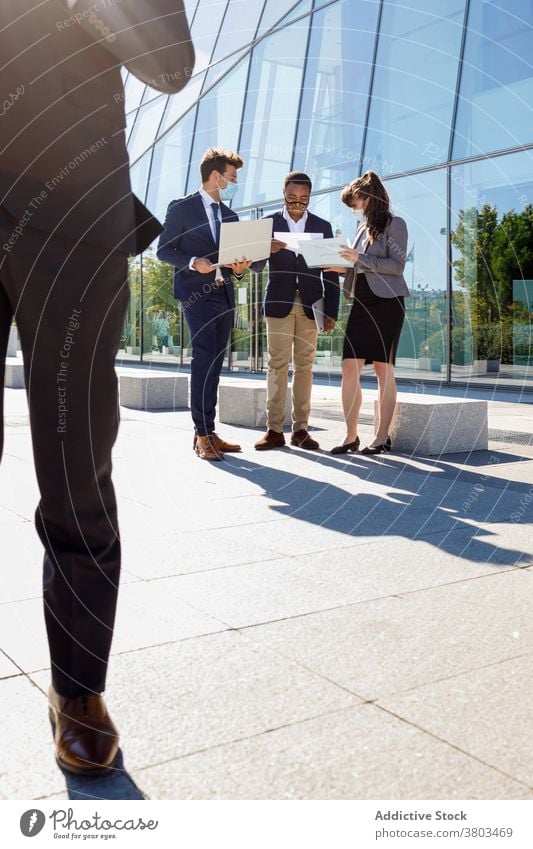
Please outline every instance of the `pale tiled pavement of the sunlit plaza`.
[[[338, 395], [315, 387], [322, 452], [257, 453], [257, 431], [224, 426], [244, 451], [219, 464], [194, 456], [187, 411], [122, 411], [107, 701], [131, 778], [157, 799], [531, 799], [533, 446], [332, 457]], [[531, 404], [489, 409], [531, 433]], [[5, 799], [67, 794], [37, 500], [24, 393], [6, 390]], [[129, 798], [112, 783], [69, 792]]]

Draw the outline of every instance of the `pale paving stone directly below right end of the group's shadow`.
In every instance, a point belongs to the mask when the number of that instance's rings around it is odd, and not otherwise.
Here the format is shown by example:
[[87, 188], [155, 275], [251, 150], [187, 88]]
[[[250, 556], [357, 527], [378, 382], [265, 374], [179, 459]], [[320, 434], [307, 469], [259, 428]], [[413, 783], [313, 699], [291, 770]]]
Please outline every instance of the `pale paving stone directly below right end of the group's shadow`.
[[[468, 540], [458, 537], [454, 535], [454, 544], [464, 551]], [[492, 574], [497, 569], [481, 558], [471, 563], [465, 554], [447, 554], [427, 539], [414, 545], [385, 539], [333, 555], [322, 551], [182, 575], [163, 583], [188, 604], [239, 628]], [[508, 560], [507, 553], [503, 559]]]

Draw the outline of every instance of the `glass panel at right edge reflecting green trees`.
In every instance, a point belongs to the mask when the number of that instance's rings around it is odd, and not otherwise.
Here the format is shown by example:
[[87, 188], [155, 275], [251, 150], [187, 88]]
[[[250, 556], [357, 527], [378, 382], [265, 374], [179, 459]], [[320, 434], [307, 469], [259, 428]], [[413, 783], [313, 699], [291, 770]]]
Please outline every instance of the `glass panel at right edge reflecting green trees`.
[[452, 376], [533, 378], [533, 154], [452, 169]]

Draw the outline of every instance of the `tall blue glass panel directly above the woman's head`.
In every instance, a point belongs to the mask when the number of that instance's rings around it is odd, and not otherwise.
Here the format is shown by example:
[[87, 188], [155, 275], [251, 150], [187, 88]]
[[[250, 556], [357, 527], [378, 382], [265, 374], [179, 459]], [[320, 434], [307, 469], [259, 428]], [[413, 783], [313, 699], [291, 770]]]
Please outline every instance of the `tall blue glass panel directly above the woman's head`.
[[385, 0], [363, 170], [448, 158], [464, 0]]

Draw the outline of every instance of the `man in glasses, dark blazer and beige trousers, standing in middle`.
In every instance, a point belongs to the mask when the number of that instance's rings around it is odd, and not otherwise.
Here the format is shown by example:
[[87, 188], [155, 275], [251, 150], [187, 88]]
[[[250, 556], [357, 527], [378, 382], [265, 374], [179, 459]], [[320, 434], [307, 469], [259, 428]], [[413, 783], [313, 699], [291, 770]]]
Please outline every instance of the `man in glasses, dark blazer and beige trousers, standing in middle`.
[[[319, 233], [325, 239], [333, 238], [329, 221], [307, 210], [311, 191], [307, 174], [293, 171], [286, 176], [285, 205], [270, 216], [274, 220], [274, 234]], [[285, 445], [283, 423], [292, 360], [291, 445], [316, 450], [318, 442], [307, 430], [318, 339], [312, 304], [324, 298], [324, 330], [332, 330], [339, 310], [339, 276], [320, 268], [308, 268], [301, 254], [289, 250], [282, 238], [272, 243], [263, 303], [268, 344], [267, 432], [255, 448], [267, 451]], [[256, 269], [259, 270], [259, 265], [254, 263]]]

